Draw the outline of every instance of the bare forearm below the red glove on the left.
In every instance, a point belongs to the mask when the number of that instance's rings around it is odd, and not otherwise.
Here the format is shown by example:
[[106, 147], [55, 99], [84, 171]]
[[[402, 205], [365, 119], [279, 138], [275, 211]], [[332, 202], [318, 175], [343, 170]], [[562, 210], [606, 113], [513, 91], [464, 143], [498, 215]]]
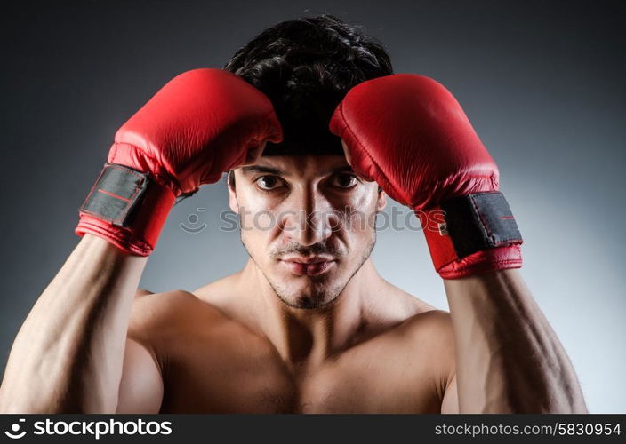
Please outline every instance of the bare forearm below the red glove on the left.
[[15, 338], [0, 412], [115, 412], [132, 299], [146, 261], [84, 235]]

